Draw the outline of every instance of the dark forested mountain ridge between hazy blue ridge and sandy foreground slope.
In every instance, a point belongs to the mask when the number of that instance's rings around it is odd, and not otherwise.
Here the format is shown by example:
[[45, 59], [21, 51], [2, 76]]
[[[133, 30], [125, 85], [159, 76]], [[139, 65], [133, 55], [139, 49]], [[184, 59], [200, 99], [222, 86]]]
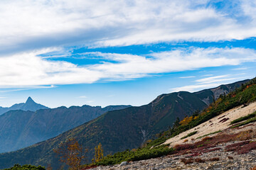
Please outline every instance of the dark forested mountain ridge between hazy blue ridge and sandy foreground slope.
[[53, 169], [58, 169], [58, 159], [53, 149], [71, 137], [89, 149], [89, 160], [92, 158], [93, 148], [100, 142], [105, 154], [137, 148], [156, 133], [169, 129], [176, 118], [182, 119], [195, 111], [203, 110], [220, 94], [233, 91], [247, 81], [238, 81], [195, 93], [180, 91], [162, 94], [144, 106], [108, 111], [57, 137], [16, 152], [0, 154], [0, 168], [14, 164], [51, 164]]

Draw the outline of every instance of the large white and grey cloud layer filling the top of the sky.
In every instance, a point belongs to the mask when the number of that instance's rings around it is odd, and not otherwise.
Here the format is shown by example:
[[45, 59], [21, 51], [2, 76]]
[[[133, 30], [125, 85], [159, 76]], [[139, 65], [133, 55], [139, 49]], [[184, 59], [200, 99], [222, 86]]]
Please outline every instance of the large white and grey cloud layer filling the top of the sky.
[[[27, 0], [0, 2], [0, 54], [65, 45], [133, 45], [256, 36], [255, 2], [240, 22], [208, 1]], [[220, 11], [218, 11], [220, 10]], [[234, 16], [234, 15], [233, 15]]]

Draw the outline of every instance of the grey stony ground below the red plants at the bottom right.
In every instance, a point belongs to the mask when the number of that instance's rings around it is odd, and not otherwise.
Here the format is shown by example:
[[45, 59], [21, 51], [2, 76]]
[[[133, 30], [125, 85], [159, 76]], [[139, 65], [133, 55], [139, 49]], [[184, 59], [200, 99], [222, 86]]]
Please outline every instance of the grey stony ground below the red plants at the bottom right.
[[[246, 169], [249, 170], [256, 166], [256, 150], [247, 154], [236, 154], [235, 152], [224, 152], [226, 146], [235, 142], [228, 142], [225, 145], [217, 145], [220, 150], [208, 152], [198, 157], [185, 155], [168, 155], [155, 159], [147, 159], [138, 162], [122, 162], [114, 166], [98, 166], [93, 170], [100, 169]], [[185, 164], [182, 159], [192, 160], [190, 164]], [[218, 160], [219, 159], [219, 160]]]

